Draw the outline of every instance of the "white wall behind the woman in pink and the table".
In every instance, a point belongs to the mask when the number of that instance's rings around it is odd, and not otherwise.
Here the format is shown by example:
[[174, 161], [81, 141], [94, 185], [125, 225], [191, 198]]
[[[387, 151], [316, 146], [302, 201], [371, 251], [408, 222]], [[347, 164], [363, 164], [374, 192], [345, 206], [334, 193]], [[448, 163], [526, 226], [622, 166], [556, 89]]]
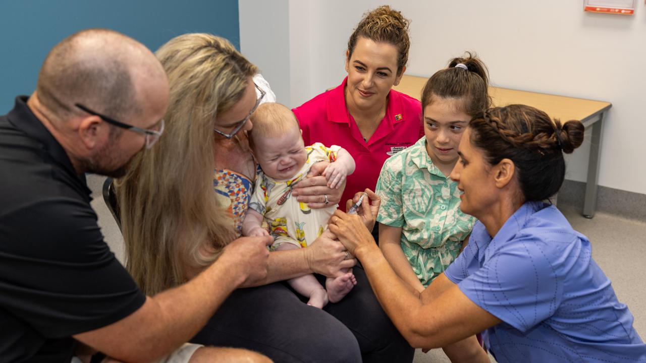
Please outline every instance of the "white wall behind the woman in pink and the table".
[[[294, 107], [340, 83], [349, 35], [383, 1], [239, 3], [242, 52], [262, 68], [279, 101]], [[412, 20], [408, 74], [430, 76], [451, 57], [475, 50], [493, 85], [611, 102], [599, 185], [646, 194], [646, 8], [637, 3], [634, 16], [583, 12], [579, 0], [390, 5]], [[249, 21], [256, 17], [264, 21]], [[568, 158], [568, 179], [585, 181], [588, 150], [584, 143]]]

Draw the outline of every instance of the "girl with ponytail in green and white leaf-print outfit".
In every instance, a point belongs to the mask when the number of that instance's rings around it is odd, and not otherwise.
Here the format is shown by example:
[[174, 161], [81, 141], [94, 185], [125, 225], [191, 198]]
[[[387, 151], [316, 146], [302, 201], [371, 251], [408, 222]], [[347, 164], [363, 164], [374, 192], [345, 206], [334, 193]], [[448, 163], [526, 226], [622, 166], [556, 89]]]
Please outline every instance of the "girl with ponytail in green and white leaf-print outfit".
[[[470, 119], [490, 106], [487, 87], [486, 67], [470, 53], [433, 74], [422, 90], [424, 137], [386, 160], [379, 175], [379, 246], [419, 292], [455, 260], [475, 223], [460, 210], [460, 191], [449, 174]], [[472, 338], [444, 351], [454, 362], [466, 361], [465, 354], [481, 353], [473, 351], [475, 344]]]

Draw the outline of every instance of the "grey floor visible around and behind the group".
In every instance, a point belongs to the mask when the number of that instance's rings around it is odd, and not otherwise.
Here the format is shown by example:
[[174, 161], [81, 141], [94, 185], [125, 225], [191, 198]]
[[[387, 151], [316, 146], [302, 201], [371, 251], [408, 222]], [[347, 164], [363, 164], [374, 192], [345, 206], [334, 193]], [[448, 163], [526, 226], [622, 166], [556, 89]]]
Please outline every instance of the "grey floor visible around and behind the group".
[[[123, 261], [123, 238], [101, 196], [103, 180], [103, 177], [88, 176], [88, 185], [94, 193], [92, 207], [99, 216], [105, 240], [117, 258]], [[586, 219], [572, 207], [559, 205], [559, 209], [574, 229], [590, 238], [592, 256], [612, 280], [620, 301], [627, 304], [635, 316], [635, 329], [642, 338], [646, 338], [646, 305], [643, 303], [646, 300], [646, 222], [604, 213]], [[441, 363], [449, 360], [441, 349], [433, 349], [426, 354], [418, 349], [414, 362]]]

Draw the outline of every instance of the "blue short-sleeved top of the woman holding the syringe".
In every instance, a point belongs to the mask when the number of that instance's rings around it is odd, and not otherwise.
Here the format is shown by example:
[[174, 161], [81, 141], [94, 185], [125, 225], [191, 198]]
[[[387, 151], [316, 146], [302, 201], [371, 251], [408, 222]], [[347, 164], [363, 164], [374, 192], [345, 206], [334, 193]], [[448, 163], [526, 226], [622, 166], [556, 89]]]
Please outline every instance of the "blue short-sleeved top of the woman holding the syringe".
[[483, 333], [503, 362], [646, 362], [634, 318], [553, 205], [527, 202], [494, 238], [474, 225], [444, 273], [501, 324]]

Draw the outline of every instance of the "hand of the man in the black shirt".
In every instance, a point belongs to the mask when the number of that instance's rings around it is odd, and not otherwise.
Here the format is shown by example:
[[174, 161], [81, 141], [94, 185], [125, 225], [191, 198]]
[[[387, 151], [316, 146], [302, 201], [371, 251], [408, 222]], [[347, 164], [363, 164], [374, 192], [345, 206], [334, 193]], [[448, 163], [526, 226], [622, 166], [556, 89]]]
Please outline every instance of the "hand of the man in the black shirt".
[[269, 258], [268, 245], [273, 243], [271, 236], [241, 237], [226, 247], [215, 264], [227, 263], [231, 276], [239, 276], [238, 287], [251, 287], [262, 284], [267, 277]]

